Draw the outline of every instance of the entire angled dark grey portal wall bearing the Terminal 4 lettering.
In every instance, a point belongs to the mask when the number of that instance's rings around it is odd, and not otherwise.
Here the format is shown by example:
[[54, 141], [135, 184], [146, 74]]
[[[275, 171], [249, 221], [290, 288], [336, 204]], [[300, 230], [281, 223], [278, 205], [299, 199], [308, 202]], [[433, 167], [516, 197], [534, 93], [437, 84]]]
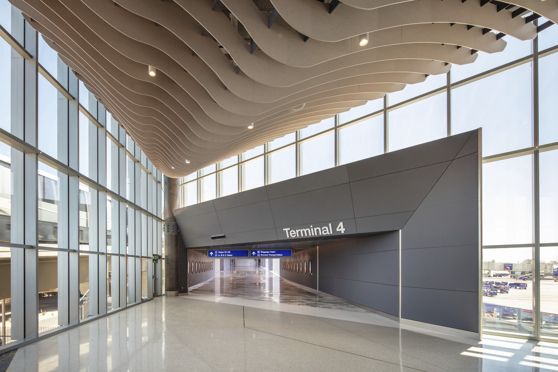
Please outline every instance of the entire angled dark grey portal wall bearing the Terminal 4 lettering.
[[355, 257], [365, 235], [401, 230], [401, 317], [478, 332], [479, 148], [477, 129], [173, 212], [187, 248], [281, 243], [296, 240], [283, 228], [331, 224], [328, 237], [348, 239], [320, 246], [331, 246], [320, 290], [392, 315], [396, 268], [374, 274], [389, 253]]

